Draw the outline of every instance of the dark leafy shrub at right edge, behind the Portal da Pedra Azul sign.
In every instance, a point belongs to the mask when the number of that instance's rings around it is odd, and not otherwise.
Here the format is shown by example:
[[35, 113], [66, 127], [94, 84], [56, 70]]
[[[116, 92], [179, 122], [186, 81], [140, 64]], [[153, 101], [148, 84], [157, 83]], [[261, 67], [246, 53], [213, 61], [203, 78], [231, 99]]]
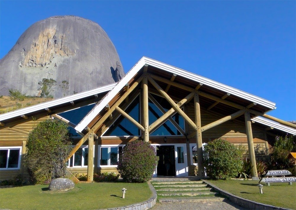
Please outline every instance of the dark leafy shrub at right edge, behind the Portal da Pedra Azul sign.
[[270, 155], [270, 170], [287, 169], [292, 166], [288, 156], [290, 152], [295, 152], [296, 137], [286, 135], [277, 136], [274, 142], [274, 150]]

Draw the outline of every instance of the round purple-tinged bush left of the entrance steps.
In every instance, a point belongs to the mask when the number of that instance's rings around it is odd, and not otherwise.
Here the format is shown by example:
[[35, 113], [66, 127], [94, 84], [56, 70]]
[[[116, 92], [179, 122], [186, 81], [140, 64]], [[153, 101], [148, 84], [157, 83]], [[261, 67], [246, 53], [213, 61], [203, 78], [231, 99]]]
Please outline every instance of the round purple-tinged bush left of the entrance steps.
[[134, 140], [123, 148], [117, 170], [125, 182], [147, 182], [155, 167], [154, 148], [148, 142]]

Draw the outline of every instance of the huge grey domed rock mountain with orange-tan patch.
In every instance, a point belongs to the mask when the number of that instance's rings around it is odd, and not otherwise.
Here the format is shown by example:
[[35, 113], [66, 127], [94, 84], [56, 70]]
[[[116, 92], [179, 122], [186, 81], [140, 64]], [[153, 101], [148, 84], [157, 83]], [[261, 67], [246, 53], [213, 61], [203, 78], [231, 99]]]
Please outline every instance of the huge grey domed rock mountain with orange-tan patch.
[[54, 98], [117, 82], [124, 75], [116, 49], [95, 22], [56, 16], [31, 25], [0, 61], [0, 95], [8, 89], [38, 95], [38, 82], [53, 78]]

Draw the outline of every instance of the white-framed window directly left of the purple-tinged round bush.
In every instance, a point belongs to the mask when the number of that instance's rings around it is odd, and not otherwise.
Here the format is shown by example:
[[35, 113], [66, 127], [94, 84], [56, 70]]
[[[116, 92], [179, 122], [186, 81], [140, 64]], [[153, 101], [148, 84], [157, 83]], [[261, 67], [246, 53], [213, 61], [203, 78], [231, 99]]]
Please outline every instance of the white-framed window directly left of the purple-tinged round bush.
[[101, 147], [100, 166], [117, 166], [122, 147]]

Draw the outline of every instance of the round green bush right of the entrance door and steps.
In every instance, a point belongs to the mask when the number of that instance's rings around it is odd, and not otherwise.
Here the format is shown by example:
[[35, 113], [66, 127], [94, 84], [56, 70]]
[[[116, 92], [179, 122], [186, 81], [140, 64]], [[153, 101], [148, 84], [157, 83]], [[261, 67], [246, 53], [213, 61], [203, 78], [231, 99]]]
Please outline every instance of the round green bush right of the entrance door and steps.
[[223, 139], [215, 139], [204, 148], [204, 161], [210, 178], [229, 179], [237, 176], [242, 168], [242, 158], [234, 145]]

